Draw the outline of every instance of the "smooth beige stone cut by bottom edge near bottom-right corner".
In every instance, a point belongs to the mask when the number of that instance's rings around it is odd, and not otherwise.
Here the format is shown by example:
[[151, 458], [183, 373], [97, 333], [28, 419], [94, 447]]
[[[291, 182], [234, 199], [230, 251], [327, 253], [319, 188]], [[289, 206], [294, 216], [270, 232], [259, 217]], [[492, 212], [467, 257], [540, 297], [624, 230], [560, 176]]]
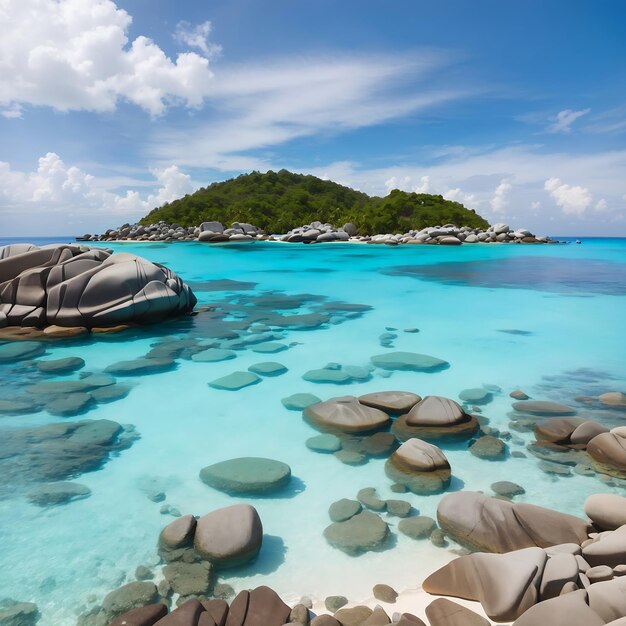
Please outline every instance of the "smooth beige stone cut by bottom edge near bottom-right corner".
[[587, 592], [572, 591], [530, 607], [514, 626], [603, 626], [605, 621], [587, 605]]

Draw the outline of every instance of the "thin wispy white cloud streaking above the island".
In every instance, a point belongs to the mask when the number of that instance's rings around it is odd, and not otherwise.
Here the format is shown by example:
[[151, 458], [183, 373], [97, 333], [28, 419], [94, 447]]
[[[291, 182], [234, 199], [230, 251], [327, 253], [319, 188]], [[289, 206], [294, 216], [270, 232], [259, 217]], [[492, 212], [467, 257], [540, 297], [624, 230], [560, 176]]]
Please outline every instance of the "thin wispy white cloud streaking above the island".
[[372, 126], [468, 97], [467, 90], [430, 86], [431, 74], [447, 63], [441, 54], [423, 52], [220, 65], [209, 96], [211, 120], [181, 120], [176, 128], [160, 130], [150, 156], [226, 171], [263, 169], [268, 163], [250, 151]]

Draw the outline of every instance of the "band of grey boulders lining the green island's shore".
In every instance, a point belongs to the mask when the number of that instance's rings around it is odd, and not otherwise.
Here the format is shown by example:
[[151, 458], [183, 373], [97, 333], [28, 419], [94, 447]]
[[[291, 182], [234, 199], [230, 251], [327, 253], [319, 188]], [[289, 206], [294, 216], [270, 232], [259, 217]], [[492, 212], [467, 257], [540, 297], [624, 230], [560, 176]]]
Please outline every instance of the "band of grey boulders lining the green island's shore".
[[493, 224], [485, 230], [469, 226], [429, 226], [406, 233], [380, 233], [360, 235], [351, 223], [335, 227], [329, 223], [313, 221], [293, 228], [285, 234], [268, 235], [261, 228], [245, 222], [233, 222], [226, 227], [220, 222], [203, 222], [199, 226], [179, 224], [124, 224], [117, 229], [109, 229], [101, 235], [85, 234], [78, 241], [202, 241], [207, 243], [241, 241], [284, 241], [288, 243], [329, 243], [355, 241], [370, 244], [441, 244], [461, 245], [462, 243], [556, 243], [549, 237], [536, 236], [526, 228], [512, 229], [507, 224]]

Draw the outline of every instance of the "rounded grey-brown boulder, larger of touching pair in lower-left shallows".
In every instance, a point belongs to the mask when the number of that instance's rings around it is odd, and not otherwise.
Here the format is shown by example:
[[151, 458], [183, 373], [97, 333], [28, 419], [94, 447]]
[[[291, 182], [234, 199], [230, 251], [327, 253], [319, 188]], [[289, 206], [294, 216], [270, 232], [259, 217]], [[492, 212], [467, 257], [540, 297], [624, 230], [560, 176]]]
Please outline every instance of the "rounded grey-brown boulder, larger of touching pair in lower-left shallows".
[[247, 563], [256, 557], [263, 541], [263, 525], [249, 504], [235, 504], [207, 513], [198, 520], [196, 551], [219, 567]]

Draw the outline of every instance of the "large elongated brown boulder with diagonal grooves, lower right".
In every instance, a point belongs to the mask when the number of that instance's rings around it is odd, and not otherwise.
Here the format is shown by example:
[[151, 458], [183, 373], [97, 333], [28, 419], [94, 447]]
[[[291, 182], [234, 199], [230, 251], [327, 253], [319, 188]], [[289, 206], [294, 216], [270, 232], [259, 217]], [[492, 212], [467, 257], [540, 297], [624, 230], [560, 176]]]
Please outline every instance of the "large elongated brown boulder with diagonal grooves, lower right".
[[587, 523], [577, 517], [473, 491], [445, 495], [437, 507], [437, 519], [455, 541], [484, 552], [580, 545], [587, 539]]

